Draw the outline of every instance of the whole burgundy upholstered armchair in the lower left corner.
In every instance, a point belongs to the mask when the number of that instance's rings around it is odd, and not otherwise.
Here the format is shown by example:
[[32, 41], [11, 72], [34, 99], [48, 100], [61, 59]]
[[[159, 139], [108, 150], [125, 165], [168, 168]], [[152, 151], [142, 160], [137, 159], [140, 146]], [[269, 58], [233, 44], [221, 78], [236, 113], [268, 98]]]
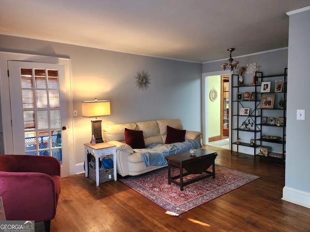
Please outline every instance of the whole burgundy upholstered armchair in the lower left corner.
[[56, 215], [61, 165], [54, 157], [0, 155], [0, 196], [7, 220], [44, 221]]

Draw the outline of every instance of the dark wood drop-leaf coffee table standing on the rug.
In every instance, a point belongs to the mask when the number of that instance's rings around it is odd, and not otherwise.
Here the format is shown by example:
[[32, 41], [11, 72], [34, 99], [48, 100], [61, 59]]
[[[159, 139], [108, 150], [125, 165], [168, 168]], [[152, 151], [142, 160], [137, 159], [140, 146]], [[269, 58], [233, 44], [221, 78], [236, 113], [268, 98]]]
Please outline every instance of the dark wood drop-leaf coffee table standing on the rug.
[[[208, 149], [197, 149], [197, 153], [195, 156], [191, 156], [189, 151], [174, 154], [170, 156], [166, 156], [166, 160], [168, 161], [168, 184], [171, 182], [180, 186], [181, 191], [183, 191], [183, 187], [189, 184], [192, 184], [196, 181], [208, 178], [210, 176], [215, 178], [215, 158], [217, 157], [217, 153]], [[212, 165], [212, 172], [207, 171], [207, 169]], [[180, 175], [171, 176], [171, 166], [176, 167], [180, 170]], [[187, 173], [183, 174], [183, 169], [187, 171]], [[196, 177], [194, 179], [183, 182], [183, 177], [189, 174], [200, 174], [206, 173], [206, 175]], [[180, 182], [175, 179], [180, 178]]]

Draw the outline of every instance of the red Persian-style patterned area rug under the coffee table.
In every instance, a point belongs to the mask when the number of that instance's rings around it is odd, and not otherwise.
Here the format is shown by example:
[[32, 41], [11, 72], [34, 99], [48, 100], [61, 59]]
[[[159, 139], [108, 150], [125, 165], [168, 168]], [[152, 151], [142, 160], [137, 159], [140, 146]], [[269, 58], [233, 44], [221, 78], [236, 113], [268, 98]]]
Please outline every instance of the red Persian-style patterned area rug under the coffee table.
[[[171, 167], [171, 176], [179, 174], [178, 169]], [[125, 179], [119, 179], [119, 181], [158, 204], [167, 213], [179, 216], [190, 209], [260, 178], [256, 175], [242, 173], [217, 164], [215, 166], [215, 174], [215, 179], [212, 179], [211, 176], [186, 185], [183, 191], [180, 190], [180, 186], [174, 183], [168, 184], [167, 167], [138, 176], [129, 176]], [[183, 178], [184, 182], [190, 178], [197, 177], [197, 175], [201, 174], [185, 176]]]

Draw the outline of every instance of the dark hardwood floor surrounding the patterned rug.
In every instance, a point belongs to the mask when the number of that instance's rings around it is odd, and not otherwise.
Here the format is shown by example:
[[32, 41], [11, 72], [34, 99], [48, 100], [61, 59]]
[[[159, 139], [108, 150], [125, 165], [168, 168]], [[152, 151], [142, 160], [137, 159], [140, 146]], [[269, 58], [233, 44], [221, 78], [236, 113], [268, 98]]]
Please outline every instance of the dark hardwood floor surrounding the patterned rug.
[[310, 209], [281, 200], [283, 165], [205, 148], [217, 151], [216, 164], [261, 178], [174, 217], [119, 181], [96, 187], [84, 174], [70, 176], [62, 179], [51, 232], [310, 231]]

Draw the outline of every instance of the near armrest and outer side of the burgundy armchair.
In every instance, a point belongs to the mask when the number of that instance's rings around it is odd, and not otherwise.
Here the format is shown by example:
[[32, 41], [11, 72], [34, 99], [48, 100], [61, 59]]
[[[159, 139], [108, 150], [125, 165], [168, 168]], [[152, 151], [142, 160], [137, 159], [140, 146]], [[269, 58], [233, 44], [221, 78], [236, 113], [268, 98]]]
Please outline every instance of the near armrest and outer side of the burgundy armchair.
[[55, 217], [55, 185], [47, 174], [1, 171], [0, 196], [7, 220], [45, 221]]

